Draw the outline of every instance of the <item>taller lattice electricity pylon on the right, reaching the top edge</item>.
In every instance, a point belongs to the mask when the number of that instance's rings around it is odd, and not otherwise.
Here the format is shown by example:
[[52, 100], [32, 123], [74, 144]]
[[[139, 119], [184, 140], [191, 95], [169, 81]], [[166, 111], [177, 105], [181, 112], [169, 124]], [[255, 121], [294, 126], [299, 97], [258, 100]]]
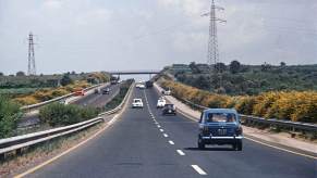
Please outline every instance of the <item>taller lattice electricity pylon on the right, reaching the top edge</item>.
[[224, 20], [218, 18], [216, 15], [216, 10], [224, 10], [221, 7], [215, 5], [215, 0], [211, 1], [210, 5], [210, 12], [203, 14], [202, 16], [208, 16], [209, 15], [209, 39], [208, 39], [208, 53], [207, 53], [207, 64], [214, 68], [211, 73], [215, 74], [215, 76], [219, 77], [219, 88], [222, 88], [222, 71], [219, 65], [217, 65], [220, 62], [219, 59], [219, 50], [218, 50], [218, 37], [217, 37], [217, 22], [224, 23]]

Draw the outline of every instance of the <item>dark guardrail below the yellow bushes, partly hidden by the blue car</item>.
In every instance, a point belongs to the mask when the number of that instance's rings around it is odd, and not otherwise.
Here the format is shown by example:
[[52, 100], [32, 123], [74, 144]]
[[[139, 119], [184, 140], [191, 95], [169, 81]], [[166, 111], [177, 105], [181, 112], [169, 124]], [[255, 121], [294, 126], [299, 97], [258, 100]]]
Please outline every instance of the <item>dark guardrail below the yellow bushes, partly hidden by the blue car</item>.
[[[183, 103], [190, 105], [191, 107], [199, 110], [199, 111], [208, 109], [204, 105], [193, 103], [188, 100], [184, 100], [184, 99], [180, 99], [180, 98], [176, 98], [176, 99], [182, 101]], [[317, 125], [316, 124], [290, 122], [290, 120], [285, 120], [285, 119], [275, 119], [275, 118], [267, 119], [267, 118], [263, 118], [263, 117], [244, 115], [244, 114], [240, 114], [240, 117], [242, 119], [243, 125], [256, 125], [256, 126], [271, 127], [271, 128], [277, 128], [277, 129], [288, 129], [291, 132], [296, 132], [296, 131], [303, 131], [304, 134], [313, 132], [315, 135], [314, 137], [317, 137]]]

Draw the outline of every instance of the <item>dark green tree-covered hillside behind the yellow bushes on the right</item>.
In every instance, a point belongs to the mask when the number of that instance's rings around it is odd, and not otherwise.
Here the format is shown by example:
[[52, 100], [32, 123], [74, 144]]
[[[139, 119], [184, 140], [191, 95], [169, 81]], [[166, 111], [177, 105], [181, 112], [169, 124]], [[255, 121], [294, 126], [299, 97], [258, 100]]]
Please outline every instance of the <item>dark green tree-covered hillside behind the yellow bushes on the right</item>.
[[[215, 68], [221, 73], [216, 75]], [[174, 64], [166, 67], [175, 79], [186, 85], [231, 96], [258, 94], [266, 91], [317, 90], [317, 64], [315, 65], [244, 65], [237, 61], [229, 65], [218, 63]], [[218, 73], [218, 74], [219, 74]], [[211, 75], [210, 75], [211, 74]], [[222, 88], [220, 87], [222, 82]]]

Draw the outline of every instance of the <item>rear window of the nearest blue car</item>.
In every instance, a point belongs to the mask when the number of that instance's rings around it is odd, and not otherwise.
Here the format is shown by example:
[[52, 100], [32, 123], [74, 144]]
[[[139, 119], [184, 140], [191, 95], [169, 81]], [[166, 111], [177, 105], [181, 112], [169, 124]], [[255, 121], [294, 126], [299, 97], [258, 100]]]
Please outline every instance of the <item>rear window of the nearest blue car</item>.
[[233, 113], [208, 113], [206, 123], [236, 123], [236, 117]]

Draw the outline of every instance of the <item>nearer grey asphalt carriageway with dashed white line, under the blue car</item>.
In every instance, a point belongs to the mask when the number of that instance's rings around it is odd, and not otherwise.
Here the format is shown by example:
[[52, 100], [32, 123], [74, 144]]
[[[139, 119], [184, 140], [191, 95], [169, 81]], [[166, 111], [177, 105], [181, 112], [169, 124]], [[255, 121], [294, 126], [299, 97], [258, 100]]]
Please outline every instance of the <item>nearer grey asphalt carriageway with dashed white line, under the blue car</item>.
[[315, 160], [248, 140], [243, 151], [197, 150], [196, 122], [162, 116], [154, 89], [132, 94], [144, 100], [144, 109], [127, 107], [98, 137], [26, 177], [316, 178]]

